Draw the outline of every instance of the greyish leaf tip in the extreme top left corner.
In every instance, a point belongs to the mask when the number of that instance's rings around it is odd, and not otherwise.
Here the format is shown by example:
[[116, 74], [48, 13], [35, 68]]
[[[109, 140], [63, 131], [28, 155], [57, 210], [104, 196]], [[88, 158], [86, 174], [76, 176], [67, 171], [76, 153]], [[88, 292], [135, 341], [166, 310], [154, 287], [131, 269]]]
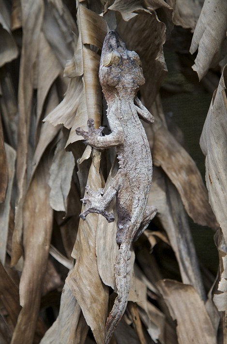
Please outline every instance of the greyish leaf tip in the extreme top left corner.
[[18, 56], [18, 49], [10, 31], [10, 13], [4, 0], [0, 1], [0, 67]]

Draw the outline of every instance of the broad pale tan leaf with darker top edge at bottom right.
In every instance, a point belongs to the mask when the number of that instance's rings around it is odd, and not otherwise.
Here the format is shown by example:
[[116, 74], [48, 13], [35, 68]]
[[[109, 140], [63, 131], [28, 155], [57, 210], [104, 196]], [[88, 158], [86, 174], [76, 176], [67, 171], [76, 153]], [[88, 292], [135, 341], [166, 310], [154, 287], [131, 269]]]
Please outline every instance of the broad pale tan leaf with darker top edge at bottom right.
[[193, 286], [171, 280], [160, 281], [158, 286], [172, 319], [177, 321], [179, 344], [217, 343], [212, 321]]

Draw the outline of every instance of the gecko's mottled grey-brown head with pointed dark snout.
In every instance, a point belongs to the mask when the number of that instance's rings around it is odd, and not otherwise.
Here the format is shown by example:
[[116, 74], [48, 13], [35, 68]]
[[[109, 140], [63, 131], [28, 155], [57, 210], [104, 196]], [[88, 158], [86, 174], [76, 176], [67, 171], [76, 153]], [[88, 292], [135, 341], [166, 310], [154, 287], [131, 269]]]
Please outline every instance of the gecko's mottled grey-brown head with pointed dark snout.
[[103, 91], [114, 87], [119, 91], [129, 90], [134, 93], [145, 82], [139, 55], [128, 50], [114, 30], [107, 33], [103, 43], [99, 80]]

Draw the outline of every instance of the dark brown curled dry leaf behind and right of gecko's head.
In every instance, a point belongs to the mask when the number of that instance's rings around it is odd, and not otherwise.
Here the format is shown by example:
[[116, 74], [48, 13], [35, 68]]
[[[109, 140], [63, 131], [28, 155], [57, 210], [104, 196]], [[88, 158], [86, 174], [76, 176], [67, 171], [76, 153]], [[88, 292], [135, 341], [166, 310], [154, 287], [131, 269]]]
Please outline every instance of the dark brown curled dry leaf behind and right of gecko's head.
[[[135, 50], [142, 61], [146, 83], [141, 93], [146, 107], [150, 107], [167, 72], [163, 55], [166, 40], [166, 25], [158, 19], [155, 9], [171, 15], [170, 6], [165, 1], [150, 1], [144, 6], [142, 1], [115, 1], [109, 8], [119, 11], [125, 20], [120, 20], [117, 31], [129, 50]], [[138, 5], [138, 3], [140, 3]], [[150, 6], [149, 6], [150, 5]], [[140, 10], [139, 10], [140, 9]], [[137, 11], [139, 15], [136, 15]], [[162, 13], [161, 12], [161, 13]], [[151, 34], [152, 32], [152, 34]]]

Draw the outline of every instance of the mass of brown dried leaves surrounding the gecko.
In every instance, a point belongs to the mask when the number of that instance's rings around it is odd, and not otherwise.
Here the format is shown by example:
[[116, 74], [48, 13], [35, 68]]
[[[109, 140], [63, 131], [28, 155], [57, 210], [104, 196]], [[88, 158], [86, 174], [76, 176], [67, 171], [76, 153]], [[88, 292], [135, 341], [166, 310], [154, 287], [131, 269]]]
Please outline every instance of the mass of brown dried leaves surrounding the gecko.
[[[128, 307], [112, 342], [226, 342], [226, 0], [0, 4], [0, 343], [104, 343], [116, 297], [117, 214], [113, 201], [113, 223], [98, 214], [79, 220], [80, 198], [87, 184], [108, 185], [117, 166], [114, 149], [85, 149], [75, 128], [94, 118], [108, 132], [98, 69], [109, 29], [142, 60], [139, 96], [155, 116], [144, 124], [154, 159], [148, 205], [158, 209], [132, 248]], [[165, 79], [170, 50], [184, 57], [174, 63], [195, 90], [214, 90], [221, 75], [200, 130], [206, 187], [162, 107], [165, 97], [174, 104], [192, 92]], [[218, 283], [199, 264], [189, 217], [216, 231]]]

